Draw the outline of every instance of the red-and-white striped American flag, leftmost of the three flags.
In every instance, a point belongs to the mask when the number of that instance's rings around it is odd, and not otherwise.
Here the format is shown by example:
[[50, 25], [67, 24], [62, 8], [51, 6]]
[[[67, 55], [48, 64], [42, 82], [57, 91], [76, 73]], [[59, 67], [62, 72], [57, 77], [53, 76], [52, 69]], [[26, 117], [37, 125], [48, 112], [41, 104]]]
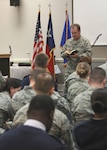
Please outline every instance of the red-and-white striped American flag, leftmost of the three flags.
[[34, 45], [33, 45], [33, 57], [32, 57], [32, 69], [35, 68], [35, 57], [38, 53], [43, 52], [43, 36], [41, 30], [41, 22], [40, 22], [40, 11], [38, 12], [38, 19], [36, 23], [36, 32], [34, 37]]

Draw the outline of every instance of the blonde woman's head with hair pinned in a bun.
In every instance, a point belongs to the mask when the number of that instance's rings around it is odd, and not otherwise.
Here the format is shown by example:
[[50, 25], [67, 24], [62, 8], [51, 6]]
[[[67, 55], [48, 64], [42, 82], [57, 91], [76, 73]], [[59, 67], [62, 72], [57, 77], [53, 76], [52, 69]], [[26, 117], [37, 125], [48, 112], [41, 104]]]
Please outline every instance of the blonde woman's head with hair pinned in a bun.
[[89, 74], [90, 66], [86, 62], [78, 63], [76, 67], [76, 73], [79, 75], [80, 78], [86, 78]]

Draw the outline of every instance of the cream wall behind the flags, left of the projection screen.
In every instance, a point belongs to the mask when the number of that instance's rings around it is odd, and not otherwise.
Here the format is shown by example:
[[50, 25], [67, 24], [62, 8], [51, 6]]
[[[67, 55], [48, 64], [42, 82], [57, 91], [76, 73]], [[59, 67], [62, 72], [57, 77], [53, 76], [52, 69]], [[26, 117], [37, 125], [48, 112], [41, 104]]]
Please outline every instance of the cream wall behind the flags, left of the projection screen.
[[[20, 0], [20, 6], [10, 6], [10, 0], [0, 0], [0, 53], [9, 53], [12, 48], [12, 61], [29, 61], [33, 54], [33, 40], [38, 15], [38, 5], [41, 5], [41, 26], [46, 42], [49, 18], [49, 3], [53, 22], [55, 55], [60, 57], [60, 40], [65, 22], [65, 4], [68, 3], [70, 22], [72, 20], [71, 0]], [[45, 51], [45, 45], [44, 45]]]

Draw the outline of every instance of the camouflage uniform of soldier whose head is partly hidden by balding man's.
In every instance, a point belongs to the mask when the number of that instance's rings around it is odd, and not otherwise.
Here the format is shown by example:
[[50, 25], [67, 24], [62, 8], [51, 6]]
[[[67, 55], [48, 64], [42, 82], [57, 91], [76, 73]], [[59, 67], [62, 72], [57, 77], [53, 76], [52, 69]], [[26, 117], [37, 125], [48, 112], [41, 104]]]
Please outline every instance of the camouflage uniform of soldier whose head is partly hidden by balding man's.
[[[16, 113], [21, 107], [31, 101], [32, 97], [36, 95], [36, 92], [30, 87], [25, 86], [23, 90], [18, 91], [14, 94], [12, 98], [12, 107]], [[51, 95], [52, 99], [55, 101], [56, 108], [69, 115], [70, 107], [68, 101], [59, 95], [58, 92], [54, 91]]]

